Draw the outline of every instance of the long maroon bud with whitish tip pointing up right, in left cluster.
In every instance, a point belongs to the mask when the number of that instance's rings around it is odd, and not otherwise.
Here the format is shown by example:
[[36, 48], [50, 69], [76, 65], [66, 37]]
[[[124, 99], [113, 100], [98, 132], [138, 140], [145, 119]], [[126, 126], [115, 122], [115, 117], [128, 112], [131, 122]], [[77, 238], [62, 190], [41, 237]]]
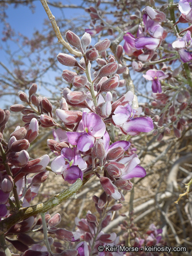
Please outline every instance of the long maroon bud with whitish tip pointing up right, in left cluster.
[[25, 167], [21, 168], [21, 172], [23, 173], [43, 172], [46, 166], [48, 165], [48, 163], [49, 163], [49, 156], [44, 155], [37, 159], [29, 161]]

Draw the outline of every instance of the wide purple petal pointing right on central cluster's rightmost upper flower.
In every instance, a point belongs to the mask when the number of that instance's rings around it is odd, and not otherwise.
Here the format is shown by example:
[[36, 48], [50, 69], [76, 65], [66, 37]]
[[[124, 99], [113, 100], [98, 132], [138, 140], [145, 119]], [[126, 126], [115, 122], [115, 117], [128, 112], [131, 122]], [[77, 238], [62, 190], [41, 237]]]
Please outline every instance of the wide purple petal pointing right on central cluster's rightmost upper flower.
[[143, 116], [129, 120], [124, 123], [121, 128], [124, 132], [133, 136], [139, 132], [150, 132], [154, 127], [152, 119], [150, 117]]

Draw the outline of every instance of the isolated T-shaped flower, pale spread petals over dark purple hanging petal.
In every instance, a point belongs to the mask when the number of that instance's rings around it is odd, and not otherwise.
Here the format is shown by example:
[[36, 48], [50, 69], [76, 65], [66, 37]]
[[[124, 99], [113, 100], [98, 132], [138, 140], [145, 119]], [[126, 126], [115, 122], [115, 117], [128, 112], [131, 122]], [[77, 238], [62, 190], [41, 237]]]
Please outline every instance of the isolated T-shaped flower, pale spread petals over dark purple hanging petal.
[[165, 79], [168, 77], [168, 75], [165, 75], [165, 73], [162, 70], [156, 70], [156, 69], [149, 69], [143, 77], [149, 81], [152, 80], [152, 92], [162, 92], [161, 89], [161, 83], [159, 80]]

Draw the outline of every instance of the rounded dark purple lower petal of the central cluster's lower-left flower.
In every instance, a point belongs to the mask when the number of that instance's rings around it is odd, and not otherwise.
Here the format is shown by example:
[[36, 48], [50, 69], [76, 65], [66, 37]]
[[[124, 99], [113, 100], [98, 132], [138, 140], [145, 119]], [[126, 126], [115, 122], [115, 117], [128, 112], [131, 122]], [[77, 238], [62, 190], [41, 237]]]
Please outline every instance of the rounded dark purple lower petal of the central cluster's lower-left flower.
[[65, 181], [68, 181], [68, 183], [72, 184], [79, 178], [83, 180], [83, 172], [78, 166], [72, 165], [70, 168], [63, 172], [63, 178]]

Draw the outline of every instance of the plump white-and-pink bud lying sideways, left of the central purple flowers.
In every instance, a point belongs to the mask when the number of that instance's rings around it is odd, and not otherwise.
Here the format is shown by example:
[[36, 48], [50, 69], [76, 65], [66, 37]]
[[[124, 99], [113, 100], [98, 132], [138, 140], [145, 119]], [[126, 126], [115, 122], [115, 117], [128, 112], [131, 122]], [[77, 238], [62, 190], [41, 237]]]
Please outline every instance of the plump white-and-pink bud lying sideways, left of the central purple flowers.
[[72, 111], [72, 110], [62, 110], [56, 109], [56, 115], [59, 117], [64, 124], [76, 124], [79, 123], [82, 119], [81, 111]]

